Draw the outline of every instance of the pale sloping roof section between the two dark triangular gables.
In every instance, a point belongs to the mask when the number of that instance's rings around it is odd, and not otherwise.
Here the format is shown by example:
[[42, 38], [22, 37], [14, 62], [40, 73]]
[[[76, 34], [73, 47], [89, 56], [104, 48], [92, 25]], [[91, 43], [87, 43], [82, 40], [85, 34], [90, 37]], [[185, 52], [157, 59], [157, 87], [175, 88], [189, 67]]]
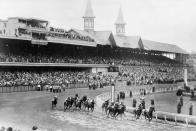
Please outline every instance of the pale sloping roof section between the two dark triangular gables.
[[119, 36], [116, 35], [115, 41], [117, 46], [123, 48], [142, 48], [140, 36]]

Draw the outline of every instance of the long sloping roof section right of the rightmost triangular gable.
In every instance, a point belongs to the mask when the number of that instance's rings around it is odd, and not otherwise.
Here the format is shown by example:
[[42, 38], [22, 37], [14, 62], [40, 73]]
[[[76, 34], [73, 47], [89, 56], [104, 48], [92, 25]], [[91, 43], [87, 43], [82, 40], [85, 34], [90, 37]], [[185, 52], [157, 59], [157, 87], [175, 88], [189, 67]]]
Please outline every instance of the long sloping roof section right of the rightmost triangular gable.
[[144, 45], [144, 49], [146, 49], [146, 50], [187, 54], [187, 52], [185, 50], [183, 50], [182, 48], [180, 48], [177, 45], [156, 42], [156, 41], [150, 41], [150, 40], [145, 40], [145, 39], [142, 39], [142, 43]]

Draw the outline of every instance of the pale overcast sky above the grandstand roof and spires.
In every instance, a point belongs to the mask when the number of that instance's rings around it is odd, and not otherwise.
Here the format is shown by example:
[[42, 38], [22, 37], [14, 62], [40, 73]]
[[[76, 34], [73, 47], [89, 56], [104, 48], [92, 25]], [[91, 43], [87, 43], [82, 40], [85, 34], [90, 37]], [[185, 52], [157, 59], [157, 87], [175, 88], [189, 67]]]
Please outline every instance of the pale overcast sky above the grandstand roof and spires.
[[[51, 26], [83, 29], [87, 0], [0, 0], [0, 19], [33, 17]], [[196, 0], [91, 0], [95, 30], [111, 30], [120, 5], [126, 21], [126, 35], [176, 44], [196, 51]]]

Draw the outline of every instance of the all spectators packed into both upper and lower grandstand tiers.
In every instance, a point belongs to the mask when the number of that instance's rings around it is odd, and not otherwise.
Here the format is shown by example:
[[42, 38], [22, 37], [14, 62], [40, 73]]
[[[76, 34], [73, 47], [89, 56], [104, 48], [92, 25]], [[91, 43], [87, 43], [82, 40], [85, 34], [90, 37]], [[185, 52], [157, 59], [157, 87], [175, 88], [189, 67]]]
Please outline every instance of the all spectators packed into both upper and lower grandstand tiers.
[[[0, 53], [0, 62], [23, 63], [77, 63], [77, 64], [109, 64], [118, 66], [120, 71], [116, 78], [109, 75], [85, 72], [0, 72], [0, 85], [36, 85], [40, 83], [68, 84], [89, 83], [94, 88], [108, 85], [111, 79], [127, 81], [129, 85], [153, 83], [175, 83], [183, 81], [184, 67], [175, 60], [160, 55], [131, 54], [114, 56], [91, 55], [33, 55]], [[188, 79], [196, 76], [188, 73]]]

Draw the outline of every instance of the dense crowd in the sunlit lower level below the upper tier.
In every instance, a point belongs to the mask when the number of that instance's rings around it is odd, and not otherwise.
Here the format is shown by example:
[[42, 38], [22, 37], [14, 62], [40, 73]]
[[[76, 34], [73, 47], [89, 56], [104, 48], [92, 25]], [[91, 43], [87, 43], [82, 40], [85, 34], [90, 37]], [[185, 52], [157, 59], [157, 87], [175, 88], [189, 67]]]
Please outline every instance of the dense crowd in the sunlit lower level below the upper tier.
[[[191, 77], [188, 76], [188, 79]], [[0, 86], [88, 84], [102, 88], [112, 80], [126, 81], [128, 85], [176, 83], [184, 80], [183, 67], [121, 66], [117, 76], [102, 73], [73, 71], [0, 71]]]

